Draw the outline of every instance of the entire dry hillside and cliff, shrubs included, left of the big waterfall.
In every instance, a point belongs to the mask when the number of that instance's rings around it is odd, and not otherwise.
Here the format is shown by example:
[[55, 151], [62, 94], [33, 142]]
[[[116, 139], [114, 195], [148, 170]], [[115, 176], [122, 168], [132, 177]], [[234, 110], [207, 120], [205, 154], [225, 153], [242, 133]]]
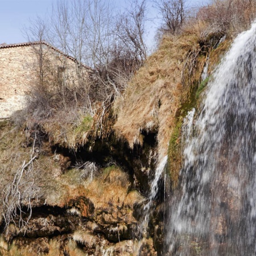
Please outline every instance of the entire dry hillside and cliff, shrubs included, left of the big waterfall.
[[162, 26], [150, 56], [115, 45], [73, 90], [39, 74], [27, 108], [0, 122], [0, 255], [164, 255], [162, 179], [138, 231], [155, 168], [168, 155], [177, 187], [183, 118], [255, 13], [254, 0], [214, 0]]

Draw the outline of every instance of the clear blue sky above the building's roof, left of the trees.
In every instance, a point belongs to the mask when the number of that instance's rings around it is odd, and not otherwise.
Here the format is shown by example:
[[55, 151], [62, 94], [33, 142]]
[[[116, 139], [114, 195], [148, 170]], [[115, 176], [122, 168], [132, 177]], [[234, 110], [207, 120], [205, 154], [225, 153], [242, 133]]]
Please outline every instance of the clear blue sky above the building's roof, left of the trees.
[[[116, 1], [122, 7], [127, 2], [126, 0], [112, 1]], [[191, 6], [195, 6], [207, 3], [209, 0], [187, 1]], [[36, 16], [44, 18], [47, 11], [51, 11], [54, 2], [56, 0], [0, 0], [0, 44], [26, 42], [23, 27], [28, 26], [29, 20]], [[152, 14], [152, 10], [150, 12]]]

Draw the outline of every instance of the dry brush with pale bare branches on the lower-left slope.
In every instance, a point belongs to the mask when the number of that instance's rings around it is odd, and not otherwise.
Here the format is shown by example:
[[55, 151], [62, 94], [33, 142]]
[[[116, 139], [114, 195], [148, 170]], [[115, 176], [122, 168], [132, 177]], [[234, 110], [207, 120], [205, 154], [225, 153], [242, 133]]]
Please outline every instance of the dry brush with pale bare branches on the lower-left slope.
[[[30, 207], [45, 200], [49, 205], [56, 205], [56, 198], [61, 197], [64, 191], [55, 180], [60, 167], [51, 157], [51, 151], [45, 151], [45, 145], [38, 143], [34, 134], [31, 137], [35, 143], [31, 144], [26, 130], [13, 127], [11, 122], [6, 123], [0, 133], [0, 214], [5, 214], [6, 228], [14, 224], [18, 232], [24, 232], [28, 215], [19, 214], [18, 208], [24, 208], [29, 214]], [[14, 230], [6, 229], [7, 237], [13, 233]]]

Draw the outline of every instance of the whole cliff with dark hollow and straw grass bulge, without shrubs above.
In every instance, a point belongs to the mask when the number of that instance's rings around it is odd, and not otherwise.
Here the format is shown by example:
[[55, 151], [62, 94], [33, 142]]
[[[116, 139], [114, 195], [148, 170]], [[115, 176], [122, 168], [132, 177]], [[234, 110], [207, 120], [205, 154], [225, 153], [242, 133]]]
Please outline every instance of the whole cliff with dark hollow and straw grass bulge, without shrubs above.
[[179, 179], [202, 49], [191, 35], [163, 40], [104, 118], [0, 122], [1, 255], [164, 255], [164, 200]]

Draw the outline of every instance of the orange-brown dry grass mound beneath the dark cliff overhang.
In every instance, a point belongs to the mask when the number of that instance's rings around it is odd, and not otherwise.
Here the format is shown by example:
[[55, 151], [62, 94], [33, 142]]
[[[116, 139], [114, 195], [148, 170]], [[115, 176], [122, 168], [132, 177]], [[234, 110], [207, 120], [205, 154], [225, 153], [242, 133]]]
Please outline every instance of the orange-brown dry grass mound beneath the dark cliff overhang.
[[[93, 180], [79, 179], [75, 170], [69, 170], [60, 177], [59, 184], [62, 184], [61, 197], [55, 199], [58, 205], [66, 205], [68, 202], [86, 197], [92, 201], [95, 208], [122, 207], [123, 205], [133, 208], [134, 203], [142, 200], [143, 197], [137, 191], [129, 191], [130, 181], [128, 175], [117, 166], [110, 166], [102, 169]], [[52, 201], [52, 200], [51, 200]], [[80, 209], [82, 216], [86, 215]]]

